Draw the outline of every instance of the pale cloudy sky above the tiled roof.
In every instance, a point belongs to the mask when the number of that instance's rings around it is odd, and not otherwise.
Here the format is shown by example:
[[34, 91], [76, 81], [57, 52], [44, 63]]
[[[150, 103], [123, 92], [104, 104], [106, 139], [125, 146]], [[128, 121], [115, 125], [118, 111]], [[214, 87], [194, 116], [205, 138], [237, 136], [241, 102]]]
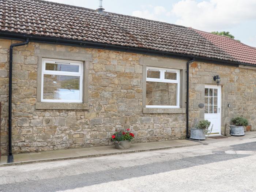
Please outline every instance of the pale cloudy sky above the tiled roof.
[[[98, 0], [49, 0], [91, 9]], [[105, 11], [174, 23], [195, 29], [229, 31], [256, 47], [256, 0], [103, 0]]]

